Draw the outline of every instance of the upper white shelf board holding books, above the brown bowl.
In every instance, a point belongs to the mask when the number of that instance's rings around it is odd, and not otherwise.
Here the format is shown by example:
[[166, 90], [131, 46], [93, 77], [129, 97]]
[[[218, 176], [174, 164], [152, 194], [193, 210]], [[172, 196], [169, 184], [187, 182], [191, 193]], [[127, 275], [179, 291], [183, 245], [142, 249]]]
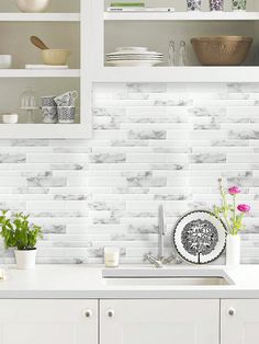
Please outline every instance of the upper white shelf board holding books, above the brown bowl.
[[105, 21], [258, 21], [259, 12], [104, 12]]

